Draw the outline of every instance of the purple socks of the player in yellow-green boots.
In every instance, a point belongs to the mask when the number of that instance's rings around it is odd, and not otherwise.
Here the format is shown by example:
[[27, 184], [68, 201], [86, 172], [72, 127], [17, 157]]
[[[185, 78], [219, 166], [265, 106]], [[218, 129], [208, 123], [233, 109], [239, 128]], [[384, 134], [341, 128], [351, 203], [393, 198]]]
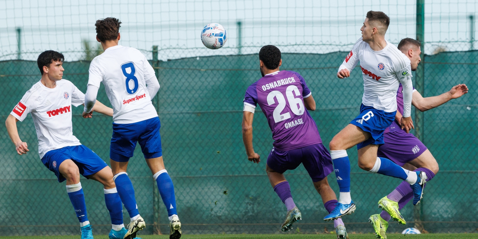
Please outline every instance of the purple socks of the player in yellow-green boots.
[[[417, 168], [413, 171], [425, 172], [427, 177], [426, 182], [429, 182], [435, 177], [435, 174], [427, 168]], [[409, 183], [407, 183], [406, 181], [403, 181], [400, 185], [398, 185], [398, 187], [395, 188], [395, 190], [393, 190], [389, 195], [387, 195], [387, 198], [392, 201], [398, 202], [398, 208], [399, 210], [402, 210], [402, 208], [413, 198], [412, 187], [410, 186]], [[380, 217], [382, 217], [385, 221], [390, 220], [390, 215], [386, 211], [382, 211], [380, 213]]]

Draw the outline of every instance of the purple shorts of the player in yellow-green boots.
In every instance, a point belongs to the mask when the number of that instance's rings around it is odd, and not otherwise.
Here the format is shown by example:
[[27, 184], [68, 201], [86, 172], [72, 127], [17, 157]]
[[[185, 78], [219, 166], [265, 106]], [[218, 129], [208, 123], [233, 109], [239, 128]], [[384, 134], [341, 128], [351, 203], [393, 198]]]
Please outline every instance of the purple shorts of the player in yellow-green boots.
[[425, 145], [413, 134], [398, 130], [384, 134], [385, 144], [380, 145], [378, 157], [387, 158], [400, 166], [426, 151]]

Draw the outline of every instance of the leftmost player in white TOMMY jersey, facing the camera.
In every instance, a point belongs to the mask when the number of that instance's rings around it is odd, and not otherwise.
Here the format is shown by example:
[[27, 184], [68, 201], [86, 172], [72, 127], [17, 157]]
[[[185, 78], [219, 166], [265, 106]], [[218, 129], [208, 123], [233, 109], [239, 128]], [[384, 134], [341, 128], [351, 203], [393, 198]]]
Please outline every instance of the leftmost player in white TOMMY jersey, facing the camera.
[[[71, 106], [82, 105], [85, 95], [73, 83], [62, 79], [64, 59], [63, 54], [55, 51], [45, 51], [38, 56], [37, 65], [42, 78], [23, 95], [5, 125], [17, 153], [25, 154], [29, 151], [28, 145], [20, 139], [17, 121], [25, 120], [28, 113], [32, 114], [38, 137], [38, 153], [42, 163], [54, 172], [58, 182], [66, 180], [66, 192], [80, 221], [82, 239], [93, 239], [93, 235], [80, 174], [104, 185], [106, 207], [112, 224], [109, 238], [117, 239], [126, 233], [123, 206], [111, 169], [73, 135]], [[113, 116], [113, 110], [99, 101], [94, 105], [94, 110]]]

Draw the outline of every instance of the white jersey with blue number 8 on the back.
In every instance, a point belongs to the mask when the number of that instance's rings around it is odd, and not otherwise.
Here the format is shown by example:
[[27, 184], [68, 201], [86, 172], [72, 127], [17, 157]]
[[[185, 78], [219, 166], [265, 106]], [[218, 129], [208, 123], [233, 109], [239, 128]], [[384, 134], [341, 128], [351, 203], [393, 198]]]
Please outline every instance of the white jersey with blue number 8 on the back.
[[88, 85], [103, 82], [113, 107], [113, 122], [135, 123], [158, 117], [146, 82], [156, 77], [146, 57], [135, 48], [112, 46], [91, 61]]

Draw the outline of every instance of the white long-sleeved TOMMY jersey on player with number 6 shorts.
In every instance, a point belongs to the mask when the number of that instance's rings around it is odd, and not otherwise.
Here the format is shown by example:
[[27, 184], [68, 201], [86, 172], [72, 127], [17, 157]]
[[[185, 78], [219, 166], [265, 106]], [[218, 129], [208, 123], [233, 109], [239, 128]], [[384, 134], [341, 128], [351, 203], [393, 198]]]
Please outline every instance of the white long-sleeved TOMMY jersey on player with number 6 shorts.
[[406, 89], [410, 91], [407, 91], [410, 93], [410, 102], [405, 100], [404, 103], [408, 104], [408, 107], [404, 106], [403, 116], [410, 116], [412, 94], [410, 59], [388, 41], [387, 46], [382, 50], [374, 51], [369, 43], [360, 38], [345, 58], [339, 71], [345, 68], [352, 71], [359, 61], [364, 86], [362, 104], [386, 112], [394, 112], [397, 110], [397, 90], [402, 83], [404, 91]]

